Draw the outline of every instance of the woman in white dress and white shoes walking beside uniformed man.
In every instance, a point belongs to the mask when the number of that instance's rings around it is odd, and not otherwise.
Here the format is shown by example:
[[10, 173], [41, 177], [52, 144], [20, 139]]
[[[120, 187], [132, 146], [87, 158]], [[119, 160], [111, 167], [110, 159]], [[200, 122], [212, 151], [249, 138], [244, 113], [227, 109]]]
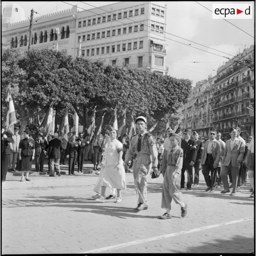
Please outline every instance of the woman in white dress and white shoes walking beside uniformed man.
[[101, 195], [96, 200], [105, 202], [106, 187], [115, 188], [117, 189], [115, 203], [121, 203], [121, 189], [126, 189], [125, 170], [122, 160], [122, 143], [117, 140], [117, 130], [111, 130], [109, 136], [111, 140], [105, 146], [104, 156], [100, 164], [100, 177], [95, 185], [94, 191], [99, 193], [99, 187], [101, 185]]

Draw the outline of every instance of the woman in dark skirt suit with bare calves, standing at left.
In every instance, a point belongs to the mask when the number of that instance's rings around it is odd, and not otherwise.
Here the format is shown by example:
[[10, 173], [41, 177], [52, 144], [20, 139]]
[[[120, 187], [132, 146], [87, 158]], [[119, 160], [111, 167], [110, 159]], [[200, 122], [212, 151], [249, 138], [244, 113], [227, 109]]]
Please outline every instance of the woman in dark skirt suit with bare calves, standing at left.
[[32, 161], [35, 158], [35, 142], [32, 138], [31, 131], [24, 131], [24, 137], [25, 138], [21, 140], [19, 145], [19, 160], [21, 160], [20, 171], [22, 173], [20, 181], [24, 180], [24, 171], [26, 172], [25, 179], [30, 181], [28, 174], [32, 170]]

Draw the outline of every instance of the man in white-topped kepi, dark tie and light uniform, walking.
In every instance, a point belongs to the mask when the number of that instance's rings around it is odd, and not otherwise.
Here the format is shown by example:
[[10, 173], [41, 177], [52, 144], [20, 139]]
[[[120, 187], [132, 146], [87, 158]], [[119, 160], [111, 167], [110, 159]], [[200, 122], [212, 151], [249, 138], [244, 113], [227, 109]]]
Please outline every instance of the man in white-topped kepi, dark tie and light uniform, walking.
[[134, 184], [136, 187], [138, 206], [136, 210], [147, 210], [147, 176], [153, 166], [153, 170], [157, 169], [157, 149], [153, 136], [146, 132], [147, 121], [145, 117], [136, 118], [136, 127], [139, 134], [136, 134], [131, 141], [130, 147], [126, 153], [124, 164], [127, 166], [128, 161], [132, 159], [134, 154], [136, 158], [133, 165]]

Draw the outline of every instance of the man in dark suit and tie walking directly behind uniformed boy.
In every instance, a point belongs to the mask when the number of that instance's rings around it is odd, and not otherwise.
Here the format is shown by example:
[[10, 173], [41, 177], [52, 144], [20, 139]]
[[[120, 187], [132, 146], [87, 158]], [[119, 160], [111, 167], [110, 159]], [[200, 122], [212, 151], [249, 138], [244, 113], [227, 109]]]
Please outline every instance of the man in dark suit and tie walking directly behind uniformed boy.
[[184, 139], [181, 141], [181, 148], [183, 149], [183, 166], [181, 170], [181, 181], [180, 181], [180, 188], [184, 189], [185, 186], [185, 171], [188, 174], [188, 182], [187, 182], [187, 189], [191, 190], [191, 185], [193, 182], [193, 166], [195, 164], [196, 158], [196, 145], [195, 141], [190, 138], [191, 130], [185, 129], [184, 130]]

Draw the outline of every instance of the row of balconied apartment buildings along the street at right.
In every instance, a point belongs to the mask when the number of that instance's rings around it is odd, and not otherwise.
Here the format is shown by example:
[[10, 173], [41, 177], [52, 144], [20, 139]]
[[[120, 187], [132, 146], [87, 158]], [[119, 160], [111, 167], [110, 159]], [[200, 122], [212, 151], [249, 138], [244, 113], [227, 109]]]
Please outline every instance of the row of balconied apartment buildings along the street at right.
[[239, 126], [248, 140], [254, 134], [254, 47], [243, 50], [217, 69], [217, 75], [196, 83], [182, 108], [184, 128], [208, 139], [211, 128], [229, 138], [228, 130]]

